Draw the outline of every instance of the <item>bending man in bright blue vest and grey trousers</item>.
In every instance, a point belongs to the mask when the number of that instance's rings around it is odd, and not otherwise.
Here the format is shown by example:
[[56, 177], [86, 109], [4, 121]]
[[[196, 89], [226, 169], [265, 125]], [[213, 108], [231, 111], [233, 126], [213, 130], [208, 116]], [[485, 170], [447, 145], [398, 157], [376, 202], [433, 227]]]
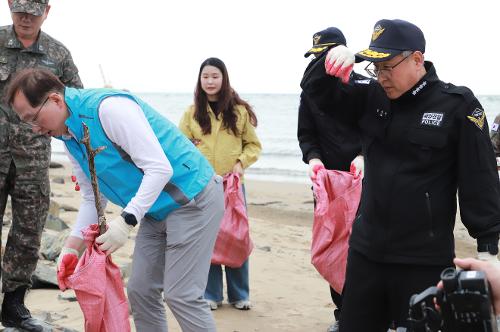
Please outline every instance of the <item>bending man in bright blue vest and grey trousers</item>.
[[166, 118], [136, 96], [109, 89], [66, 88], [49, 71], [16, 76], [7, 102], [35, 132], [65, 143], [82, 189], [76, 226], [58, 260], [71, 273], [82, 248], [81, 230], [97, 221], [83, 126], [91, 145], [106, 146], [95, 169], [103, 196], [123, 207], [96, 239], [108, 254], [140, 224], [127, 286], [138, 331], [167, 331], [165, 301], [183, 331], [215, 331], [203, 299], [210, 259], [224, 211], [221, 178]]

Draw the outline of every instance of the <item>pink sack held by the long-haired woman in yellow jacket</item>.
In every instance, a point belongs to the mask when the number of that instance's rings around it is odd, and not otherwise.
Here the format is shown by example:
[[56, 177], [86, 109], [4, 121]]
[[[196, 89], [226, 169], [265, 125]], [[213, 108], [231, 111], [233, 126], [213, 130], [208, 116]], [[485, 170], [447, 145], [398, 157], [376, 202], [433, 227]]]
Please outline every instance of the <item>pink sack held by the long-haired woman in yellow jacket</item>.
[[224, 217], [215, 240], [212, 264], [236, 268], [245, 263], [253, 249], [245, 199], [237, 173], [224, 176], [224, 206]]

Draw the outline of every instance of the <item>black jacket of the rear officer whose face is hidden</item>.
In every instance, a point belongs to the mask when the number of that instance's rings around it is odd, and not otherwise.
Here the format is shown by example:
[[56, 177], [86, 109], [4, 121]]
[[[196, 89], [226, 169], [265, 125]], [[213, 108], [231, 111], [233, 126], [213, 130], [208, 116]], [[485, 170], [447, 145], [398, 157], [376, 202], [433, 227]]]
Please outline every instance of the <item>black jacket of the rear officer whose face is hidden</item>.
[[342, 83], [325, 73], [326, 53], [309, 63], [300, 83], [297, 137], [305, 163], [319, 158], [327, 169], [348, 171], [361, 152], [360, 137], [355, 112], [342, 98]]

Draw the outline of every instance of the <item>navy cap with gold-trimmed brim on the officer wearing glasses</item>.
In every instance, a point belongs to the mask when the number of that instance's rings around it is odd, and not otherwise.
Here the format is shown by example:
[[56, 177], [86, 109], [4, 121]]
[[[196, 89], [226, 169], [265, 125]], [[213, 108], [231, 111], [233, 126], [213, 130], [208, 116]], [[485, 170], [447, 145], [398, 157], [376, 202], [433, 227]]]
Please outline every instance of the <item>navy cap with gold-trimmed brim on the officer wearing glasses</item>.
[[370, 47], [356, 53], [356, 62], [387, 61], [404, 51], [424, 53], [424, 33], [413, 23], [384, 19], [375, 23]]

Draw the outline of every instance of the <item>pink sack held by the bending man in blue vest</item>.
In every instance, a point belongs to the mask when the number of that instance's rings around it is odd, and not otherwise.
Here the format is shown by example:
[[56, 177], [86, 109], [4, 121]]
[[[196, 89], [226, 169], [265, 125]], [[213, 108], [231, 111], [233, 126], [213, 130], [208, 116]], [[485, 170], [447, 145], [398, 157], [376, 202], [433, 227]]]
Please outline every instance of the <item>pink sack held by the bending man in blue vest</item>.
[[128, 303], [120, 269], [97, 245], [97, 224], [83, 230], [87, 245], [75, 272], [64, 284], [74, 289], [85, 318], [86, 332], [130, 331]]

